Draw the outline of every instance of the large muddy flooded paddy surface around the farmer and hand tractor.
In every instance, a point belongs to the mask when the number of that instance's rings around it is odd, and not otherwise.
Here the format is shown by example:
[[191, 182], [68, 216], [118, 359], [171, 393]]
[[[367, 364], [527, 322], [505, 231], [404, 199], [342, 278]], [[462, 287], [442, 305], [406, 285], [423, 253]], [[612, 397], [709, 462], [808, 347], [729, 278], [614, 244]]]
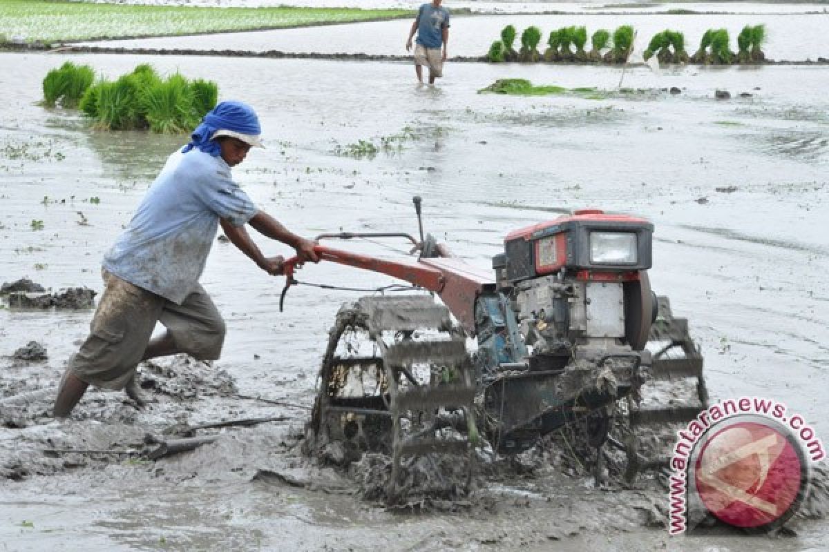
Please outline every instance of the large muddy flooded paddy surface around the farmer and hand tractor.
[[[95, 132], [75, 113], [36, 106], [42, 75], [65, 60], [110, 76], [149, 61], [162, 71], [215, 79], [223, 98], [253, 103], [268, 149], [253, 151], [236, 178], [263, 209], [309, 236], [340, 228], [415, 233], [410, 198], [421, 194], [426, 229], [486, 267], [505, 233], [562, 209], [599, 206], [650, 218], [657, 228], [652, 285], [691, 320], [711, 393], [771, 396], [824, 439], [829, 435], [825, 68], [622, 74], [449, 65], [438, 88], [421, 88], [402, 64], [0, 55], [0, 84], [8, 91], [0, 117], [0, 279], [30, 276], [54, 290], [100, 290], [101, 255], [181, 143], [179, 137]], [[503, 77], [606, 90], [623, 78], [623, 86], [644, 91], [604, 99], [476, 93]], [[681, 94], [662, 92], [671, 86]], [[715, 89], [753, 95], [716, 101]], [[401, 134], [390, 149], [381, 147], [383, 137]], [[381, 151], [373, 159], [333, 153], [359, 140]], [[79, 224], [79, 211], [87, 224]], [[32, 229], [33, 220], [43, 229]], [[264, 251], [288, 253], [258, 242]], [[351, 247], [396, 255], [372, 243]], [[337, 266], [308, 266], [298, 277], [342, 286], [389, 283]], [[225, 314], [229, 334], [215, 372], [173, 366], [198, 375], [182, 385], [196, 386], [199, 396], [162, 386], [158, 404], [135, 412], [118, 394], [90, 393], [81, 417], [119, 420], [118, 427], [132, 429], [118, 437], [94, 420], [39, 418], [27, 439], [60, 444], [65, 435], [88, 435], [90, 443], [116, 448], [180, 418], [194, 424], [288, 415], [291, 421], [227, 431], [216, 444], [155, 464], [95, 458], [84, 465], [73, 456], [57, 466], [56, 476], [4, 480], [0, 535], [9, 550], [61, 544], [72, 550], [72, 542], [87, 550], [548, 550], [553, 543], [563, 550], [641, 550], [642, 542], [669, 550], [820, 550], [827, 540], [826, 521], [797, 526], [799, 536], [790, 540], [668, 540], [662, 530], [642, 529], [640, 511], [620, 506], [633, 500], [629, 495], [598, 493], [580, 502], [574, 497], [584, 496], [582, 482], [553, 476], [493, 487], [487, 491], [492, 509], [476, 506], [471, 514], [401, 518], [355, 502], [340, 494], [343, 482], [334, 474], [315, 472], [294, 455], [291, 432], [305, 420], [303, 410], [239, 396], [310, 405], [328, 325], [356, 295], [298, 286], [280, 314], [282, 281], [221, 243], [202, 283]], [[90, 317], [87, 311], [0, 310], [0, 354], [11, 355], [32, 338], [49, 354], [31, 366], [3, 359], [0, 381], [48, 393]], [[221, 391], [222, 370], [234, 393]], [[4, 451], [21, 439], [19, 430], [0, 431]], [[327, 492], [251, 482], [261, 469], [295, 473], [312, 487], [326, 482]]]

